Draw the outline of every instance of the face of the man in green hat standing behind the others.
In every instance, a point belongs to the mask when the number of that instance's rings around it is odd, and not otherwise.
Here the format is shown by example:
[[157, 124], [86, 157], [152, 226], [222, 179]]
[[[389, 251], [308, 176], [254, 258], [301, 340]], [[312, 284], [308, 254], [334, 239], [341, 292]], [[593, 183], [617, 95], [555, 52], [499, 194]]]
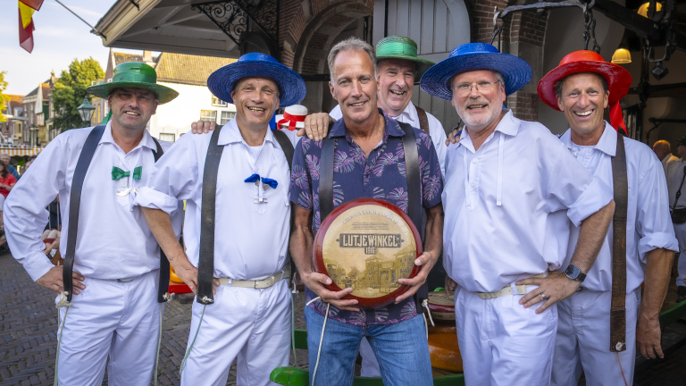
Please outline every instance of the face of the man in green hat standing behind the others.
[[384, 59], [379, 63], [379, 107], [391, 116], [398, 116], [410, 103], [414, 89], [414, 62]]

